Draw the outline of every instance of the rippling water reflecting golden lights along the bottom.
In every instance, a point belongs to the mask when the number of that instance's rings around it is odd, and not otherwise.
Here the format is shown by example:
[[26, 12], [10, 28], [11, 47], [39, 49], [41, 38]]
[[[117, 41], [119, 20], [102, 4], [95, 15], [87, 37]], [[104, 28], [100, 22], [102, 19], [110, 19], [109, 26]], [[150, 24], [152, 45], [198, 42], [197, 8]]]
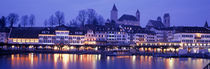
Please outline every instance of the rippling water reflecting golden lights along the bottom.
[[29, 53], [1, 55], [0, 69], [202, 69], [209, 62], [201, 58]]

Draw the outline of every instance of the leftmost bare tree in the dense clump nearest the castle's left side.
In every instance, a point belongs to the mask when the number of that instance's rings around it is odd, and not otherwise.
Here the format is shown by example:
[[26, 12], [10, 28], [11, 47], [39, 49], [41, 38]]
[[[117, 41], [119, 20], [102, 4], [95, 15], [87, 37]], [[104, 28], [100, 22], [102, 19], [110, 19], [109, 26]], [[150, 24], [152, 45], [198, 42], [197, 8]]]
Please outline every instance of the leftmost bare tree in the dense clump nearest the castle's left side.
[[82, 27], [84, 27], [85, 22], [87, 20], [87, 12], [86, 12], [86, 10], [79, 11], [79, 14], [78, 14], [76, 20], [81, 24]]

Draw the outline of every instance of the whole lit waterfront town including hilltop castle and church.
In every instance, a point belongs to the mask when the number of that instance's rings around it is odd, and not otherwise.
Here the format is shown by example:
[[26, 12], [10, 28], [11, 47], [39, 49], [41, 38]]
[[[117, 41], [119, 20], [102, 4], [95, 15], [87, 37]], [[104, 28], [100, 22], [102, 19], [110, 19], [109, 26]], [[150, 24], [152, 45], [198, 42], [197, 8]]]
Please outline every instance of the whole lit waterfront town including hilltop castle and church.
[[[144, 44], [180, 45], [195, 50], [210, 51], [210, 28], [170, 26], [170, 15], [166, 13], [157, 20], [149, 20], [145, 28], [140, 26], [140, 11], [136, 15], [124, 14], [118, 19], [114, 5], [111, 18], [105, 25], [87, 24], [81, 27], [13, 27], [1, 28], [0, 42], [5, 44], [45, 45], [133, 45]], [[195, 51], [197, 52], [197, 51]]]

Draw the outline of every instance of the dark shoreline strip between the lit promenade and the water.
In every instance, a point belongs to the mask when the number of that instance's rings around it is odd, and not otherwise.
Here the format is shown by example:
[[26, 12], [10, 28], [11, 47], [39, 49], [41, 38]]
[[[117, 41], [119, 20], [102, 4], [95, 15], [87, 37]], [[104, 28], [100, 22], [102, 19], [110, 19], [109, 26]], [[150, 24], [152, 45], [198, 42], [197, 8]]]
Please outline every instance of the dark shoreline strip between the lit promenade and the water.
[[153, 57], [164, 57], [164, 58], [203, 58], [203, 59], [210, 59], [210, 54], [195, 54], [195, 53], [188, 53], [188, 54], [176, 54], [176, 53], [151, 53], [151, 52], [136, 52], [136, 53], [128, 53], [128, 54], [113, 54], [111, 52], [105, 51], [47, 51], [47, 50], [40, 50], [40, 51], [19, 51], [19, 50], [0, 50], [1, 55], [10, 55], [10, 54], [26, 54], [26, 53], [41, 53], [41, 54], [100, 54], [104, 56], [133, 56], [133, 55], [141, 55], [141, 56], [153, 56]]

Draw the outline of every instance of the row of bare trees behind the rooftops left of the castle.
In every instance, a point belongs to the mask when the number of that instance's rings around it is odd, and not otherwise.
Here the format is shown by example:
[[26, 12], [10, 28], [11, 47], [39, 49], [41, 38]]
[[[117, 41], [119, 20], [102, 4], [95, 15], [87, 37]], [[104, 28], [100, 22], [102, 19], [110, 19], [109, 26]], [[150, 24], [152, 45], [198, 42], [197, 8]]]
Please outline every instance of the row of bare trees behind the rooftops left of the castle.
[[[103, 25], [104, 18], [97, 14], [94, 9], [80, 10], [76, 18], [65, 21], [65, 14], [61, 11], [56, 11], [54, 14], [45, 19], [43, 24], [45, 27], [55, 27], [67, 25], [69, 27], [84, 27], [85, 24]], [[33, 27], [36, 24], [35, 15], [22, 15], [10, 13], [8, 16], [0, 17], [0, 27]], [[40, 23], [39, 23], [40, 24]], [[41, 25], [39, 25], [41, 26]]]

